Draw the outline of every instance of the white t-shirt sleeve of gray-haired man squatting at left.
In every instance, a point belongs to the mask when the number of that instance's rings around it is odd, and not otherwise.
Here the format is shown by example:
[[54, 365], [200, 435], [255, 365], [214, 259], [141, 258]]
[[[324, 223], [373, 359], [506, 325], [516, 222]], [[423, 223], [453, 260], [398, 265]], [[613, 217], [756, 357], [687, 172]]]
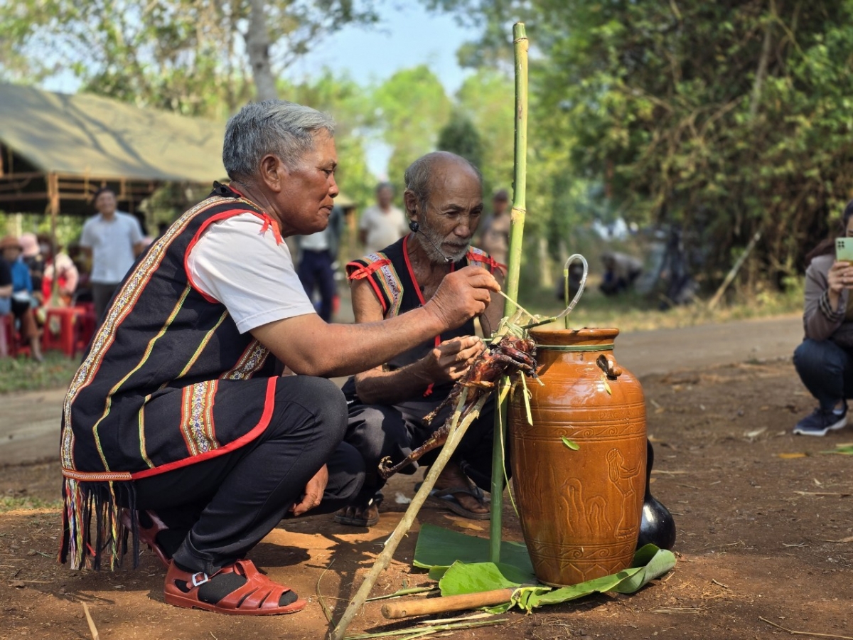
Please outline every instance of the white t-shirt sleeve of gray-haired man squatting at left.
[[240, 213], [211, 224], [189, 252], [190, 282], [221, 302], [241, 334], [286, 317], [316, 313], [285, 242], [264, 220]]

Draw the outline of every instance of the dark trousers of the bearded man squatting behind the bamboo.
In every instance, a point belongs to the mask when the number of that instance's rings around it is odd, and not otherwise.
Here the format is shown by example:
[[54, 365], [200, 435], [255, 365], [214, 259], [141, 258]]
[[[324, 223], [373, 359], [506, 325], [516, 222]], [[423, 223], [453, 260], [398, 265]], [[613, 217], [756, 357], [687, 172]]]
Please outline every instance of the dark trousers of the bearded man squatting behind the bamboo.
[[[423, 417], [435, 409], [447, 396], [449, 389], [438, 391], [427, 398], [415, 398], [397, 404], [360, 404], [354, 400], [350, 406], [349, 425], [345, 442], [354, 446], [364, 458], [367, 479], [358, 502], [364, 502], [385, 485], [377, 473], [382, 458], [390, 456], [399, 463], [412, 450], [422, 445], [435, 429], [441, 427], [455, 407], [447, 406], [436, 416], [430, 426]], [[495, 402], [490, 398], [477, 420], [471, 423], [450, 459], [484, 491], [491, 489], [491, 449], [494, 435]], [[420, 464], [434, 462], [441, 447], [421, 457]], [[410, 464], [401, 473], [414, 474], [419, 463]], [[509, 469], [507, 469], [509, 471]]]

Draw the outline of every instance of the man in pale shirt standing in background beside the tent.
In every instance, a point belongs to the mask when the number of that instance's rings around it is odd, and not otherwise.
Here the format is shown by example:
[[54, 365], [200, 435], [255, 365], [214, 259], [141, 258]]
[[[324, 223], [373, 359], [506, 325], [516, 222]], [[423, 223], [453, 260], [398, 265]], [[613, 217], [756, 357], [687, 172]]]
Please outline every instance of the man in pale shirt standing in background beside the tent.
[[95, 315], [100, 322], [119, 283], [133, 266], [145, 242], [139, 222], [129, 213], [116, 210], [115, 192], [102, 187], [95, 192], [98, 211], [83, 225], [80, 247], [91, 260], [90, 283]]

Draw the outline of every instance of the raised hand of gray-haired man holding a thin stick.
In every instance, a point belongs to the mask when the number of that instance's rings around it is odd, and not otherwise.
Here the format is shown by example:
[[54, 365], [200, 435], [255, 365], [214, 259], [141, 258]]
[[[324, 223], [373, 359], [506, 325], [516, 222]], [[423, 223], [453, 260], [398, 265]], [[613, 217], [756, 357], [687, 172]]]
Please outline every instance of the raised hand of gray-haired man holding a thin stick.
[[491, 301], [490, 291], [500, 290], [501, 286], [488, 271], [467, 266], [444, 276], [424, 309], [432, 311], [445, 330], [456, 329], [485, 310]]

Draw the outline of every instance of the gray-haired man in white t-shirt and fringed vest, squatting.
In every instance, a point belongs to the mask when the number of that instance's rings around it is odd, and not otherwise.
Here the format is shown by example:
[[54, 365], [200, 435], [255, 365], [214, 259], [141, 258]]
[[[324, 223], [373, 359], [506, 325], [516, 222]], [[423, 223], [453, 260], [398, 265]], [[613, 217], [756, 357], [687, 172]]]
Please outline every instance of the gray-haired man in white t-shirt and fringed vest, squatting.
[[[322, 321], [283, 239], [322, 230], [338, 195], [334, 123], [250, 104], [225, 131], [229, 186], [137, 260], [68, 389], [61, 559], [120, 560], [128, 532], [167, 567], [165, 601], [224, 614], [305, 607], [246, 558], [284, 517], [330, 512], [364, 480], [327, 376], [456, 328], [499, 286], [470, 267], [387, 321]], [[287, 366], [298, 375], [278, 375]]]

